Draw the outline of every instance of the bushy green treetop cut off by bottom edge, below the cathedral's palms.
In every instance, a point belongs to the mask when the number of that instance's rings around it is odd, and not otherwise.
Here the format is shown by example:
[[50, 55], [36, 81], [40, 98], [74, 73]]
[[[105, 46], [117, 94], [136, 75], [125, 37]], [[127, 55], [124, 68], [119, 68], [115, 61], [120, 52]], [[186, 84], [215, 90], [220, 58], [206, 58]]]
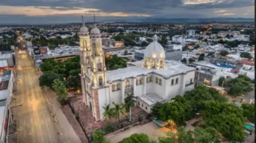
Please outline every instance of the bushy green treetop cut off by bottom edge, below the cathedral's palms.
[[134, 133], [130, 137], [122, 139], [120, 143], [149, 143], [149, 136], [145, 133]]

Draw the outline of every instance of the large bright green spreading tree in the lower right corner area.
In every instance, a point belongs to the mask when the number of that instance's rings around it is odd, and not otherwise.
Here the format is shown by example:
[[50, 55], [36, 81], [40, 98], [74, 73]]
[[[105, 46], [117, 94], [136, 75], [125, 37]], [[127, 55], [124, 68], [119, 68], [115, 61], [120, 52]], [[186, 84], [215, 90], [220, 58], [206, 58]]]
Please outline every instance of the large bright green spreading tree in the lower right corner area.
[[207, 127], [214, 127], [232, 142], [243, 142], [246, 137], [243, 110], [234, 104], [205, 101], [202, 115]]

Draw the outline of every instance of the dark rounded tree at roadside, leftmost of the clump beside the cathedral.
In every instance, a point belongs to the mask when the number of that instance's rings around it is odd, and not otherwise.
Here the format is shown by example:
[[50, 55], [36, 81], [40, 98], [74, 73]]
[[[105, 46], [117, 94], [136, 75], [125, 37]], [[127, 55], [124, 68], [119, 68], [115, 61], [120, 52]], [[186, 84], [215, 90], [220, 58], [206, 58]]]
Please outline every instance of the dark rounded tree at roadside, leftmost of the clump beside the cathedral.
[[45, 74], [39, 77], [39, 84], [40, 86], [51, 87], [51, 84], [56, 79], [60, 79], [60, 76], [58, 74], [55, 74], [52, 71], [47, 71]]

